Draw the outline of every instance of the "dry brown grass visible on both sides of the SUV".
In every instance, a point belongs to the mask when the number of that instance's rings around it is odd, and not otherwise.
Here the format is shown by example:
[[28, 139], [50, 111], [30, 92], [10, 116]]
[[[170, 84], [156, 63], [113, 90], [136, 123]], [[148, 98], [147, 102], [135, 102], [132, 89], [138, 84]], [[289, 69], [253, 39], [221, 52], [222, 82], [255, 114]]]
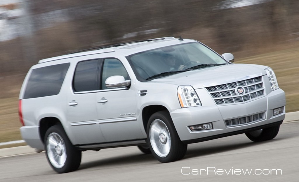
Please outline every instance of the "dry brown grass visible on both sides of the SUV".
[[[286, 92], [286, 111], [299, 111], [299, 48], [266, 53], [247, 58], [236, 58], [236, 63], [262, 64], [271, 67], [279, 86]], [[25, 75], [1, 79], [0, 142], [21, 140], [18, 116], [18, 92]], [[11, 81], [13, 80], [13, 81]], [[4, 92], [3, 92], [4, 90]], [[16, 144], [18, 146], [23, 144]], [[3, 148], [4, 146], [2, 146]]]

